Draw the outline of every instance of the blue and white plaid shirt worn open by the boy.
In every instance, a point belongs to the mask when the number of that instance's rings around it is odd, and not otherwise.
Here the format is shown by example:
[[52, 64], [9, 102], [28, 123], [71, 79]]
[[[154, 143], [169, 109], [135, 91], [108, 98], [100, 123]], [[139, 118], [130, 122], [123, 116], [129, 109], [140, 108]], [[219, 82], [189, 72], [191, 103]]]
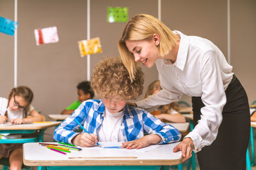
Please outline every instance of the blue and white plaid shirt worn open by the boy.
[[[102, 100], [84, 101], [74, 113], [66, 118], [60, 126], [54, 131], [53, 138], [56, 141], [64, 143], [72, 143], [71, 140], [77, 136], [76, 130], [79, 125], [75, 119], [84, 126], [84, 128], [92, 133], [97, 134], [97, 130], [105, 114], [105, 106]], [[162, 138], [163, 143], [173, 143], [181, 138], [180, 132], [172, 125], [164, 124], [161, 120], [155, 118], [147, 111], [133, 106], [125, 105], [124, 117], [120, 127], [125, 141], [133, 141], [144, 136], [144, 130], [148, 134], [157, 134]], [[84, 131], [83, 131], [84, 132]]]

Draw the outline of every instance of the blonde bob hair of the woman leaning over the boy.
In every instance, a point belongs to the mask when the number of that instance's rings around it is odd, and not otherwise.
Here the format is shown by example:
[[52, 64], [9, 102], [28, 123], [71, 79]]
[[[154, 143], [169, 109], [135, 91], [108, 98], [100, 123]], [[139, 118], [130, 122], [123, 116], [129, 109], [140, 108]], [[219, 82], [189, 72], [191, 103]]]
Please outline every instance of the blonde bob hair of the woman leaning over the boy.
[[158, 46], [159, 55], [162, 57], [172, 50], [178, 37], [157, 18], [139, 14], [132, 17], [124, 28], [122, 37], [118, 41], [118, 50], [125, 67], [129, 71], [131, 80], [135, 78], [138, 69], [138, 62], [135, 62], [134, 55], [129, 52], [125, 41], [151, 39], [153, 34], [158, 34], [160, 43]]

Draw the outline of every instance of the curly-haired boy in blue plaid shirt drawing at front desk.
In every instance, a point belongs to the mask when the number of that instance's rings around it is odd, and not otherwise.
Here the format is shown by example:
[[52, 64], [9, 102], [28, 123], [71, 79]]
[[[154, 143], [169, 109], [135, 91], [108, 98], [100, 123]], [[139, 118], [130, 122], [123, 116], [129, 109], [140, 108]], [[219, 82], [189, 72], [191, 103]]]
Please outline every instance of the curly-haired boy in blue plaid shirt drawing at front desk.
[[[179, 141], [180, 132], [145, 110], [129, 106], [127, 101], [142, 94], [143, 72], [138, 69], [131, 82], [120, 57], [101, 60], [92, 74], [92, 89], [100, 100], [84, 101], [54, 132], [54, 139], [79, 146], [93, 146], [97, 141], [124, 142], [127, 149]], [[88, 133], [77, 133], [79, 125]], [[143, 131], [148, 133], [144, 136]]]

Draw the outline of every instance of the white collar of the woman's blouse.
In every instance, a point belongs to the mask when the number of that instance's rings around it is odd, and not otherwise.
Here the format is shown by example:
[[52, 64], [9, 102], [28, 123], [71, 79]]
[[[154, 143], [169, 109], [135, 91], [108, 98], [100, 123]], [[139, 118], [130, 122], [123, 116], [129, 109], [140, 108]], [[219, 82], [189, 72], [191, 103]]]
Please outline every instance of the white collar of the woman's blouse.
[[187, 55], [188, 55], [189, 39], [188, 39], [188, 36], [186, 36], [185, 34], [182, 34], [182, 32], [180, 31], [173, 31], [173, 33], [180, 35], [179, 51], [178, 51], [177, 59], [174, 65], [183, 71], [186, 64]]

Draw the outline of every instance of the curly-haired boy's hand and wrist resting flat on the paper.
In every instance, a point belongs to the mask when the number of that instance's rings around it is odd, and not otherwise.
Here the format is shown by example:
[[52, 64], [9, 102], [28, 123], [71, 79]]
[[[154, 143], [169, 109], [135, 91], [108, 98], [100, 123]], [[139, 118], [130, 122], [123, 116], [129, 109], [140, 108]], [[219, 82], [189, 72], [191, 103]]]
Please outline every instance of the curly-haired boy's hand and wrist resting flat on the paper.
[[143, 136], [140, 139], [134, 140], [134, 141], [128, 141], [125, 143], [122, 143], [122, 148], [127, 149], [140, 149], [149, 146], [150, 144], [157, 144], [161, 141], [160, 136], [157, 134], [149, 134], [147, 136]]

